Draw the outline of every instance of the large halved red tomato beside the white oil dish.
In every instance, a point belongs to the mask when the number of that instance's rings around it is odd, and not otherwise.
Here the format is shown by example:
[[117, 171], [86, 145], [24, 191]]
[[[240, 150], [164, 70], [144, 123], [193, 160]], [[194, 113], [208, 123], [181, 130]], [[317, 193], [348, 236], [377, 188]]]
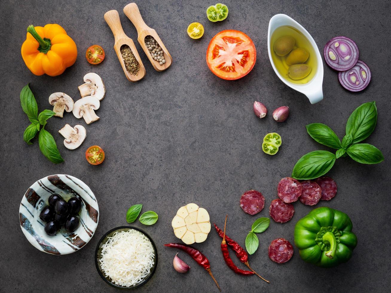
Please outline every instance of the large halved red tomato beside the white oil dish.
[[253, 69], [256, 50], [244, 32], [221, 31], [210, 40], [206, 63], [210, 71], [222, 79], [239, 79]]

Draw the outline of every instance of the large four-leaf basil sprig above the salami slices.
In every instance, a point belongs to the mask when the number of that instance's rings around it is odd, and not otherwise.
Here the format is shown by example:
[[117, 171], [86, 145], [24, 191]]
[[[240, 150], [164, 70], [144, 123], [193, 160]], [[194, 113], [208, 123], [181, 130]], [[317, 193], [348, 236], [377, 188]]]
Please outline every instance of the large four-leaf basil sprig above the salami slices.
[[292, 177], [300, 180], [314, 179], [326, 174], [333, 167], [335, 160], [349, 155], [361, 164], [377, 164], [384, 160], [382, 152], [371, 144], [357, 144], [375, 129], [377, 122], [376, 103], [368, 102], [359, 106], [350, 115], [346, 123], [346, 135], [339, 140], [330, 127], [322, 123], [306, 126], [308, 134], [325, 146], [337, 149], [329, 151], [312, 151], [302, 156], [292, 170]]

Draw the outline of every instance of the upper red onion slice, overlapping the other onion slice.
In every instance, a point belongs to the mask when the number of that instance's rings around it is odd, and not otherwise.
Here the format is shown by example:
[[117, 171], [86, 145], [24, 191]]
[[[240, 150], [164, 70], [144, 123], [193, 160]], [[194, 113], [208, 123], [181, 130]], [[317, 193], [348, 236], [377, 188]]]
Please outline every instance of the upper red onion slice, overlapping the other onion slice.
[[339, 36], [328, 41], [323, 55], [328, 66], [338, 71], [345, 71], [357, 63], [359, 48], [353, 40]]

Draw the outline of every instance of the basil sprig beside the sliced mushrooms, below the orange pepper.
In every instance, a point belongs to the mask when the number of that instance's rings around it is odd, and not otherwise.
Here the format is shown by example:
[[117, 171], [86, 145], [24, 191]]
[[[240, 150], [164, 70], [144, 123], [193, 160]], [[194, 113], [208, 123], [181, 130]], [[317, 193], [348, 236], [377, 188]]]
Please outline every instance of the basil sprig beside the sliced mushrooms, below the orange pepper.
[[47, 120], [56, 113], [51, 110], [43, 110], [38, 115], [37, 101], [35, 100], [34, 95], [30, 90], [29, 84], [24, 86], [20, 92], [20, 105], [31, 122], [31, 124], [27, 126], [23, 133], [23, 140], [27, 144], [32, 144], [31, 140], [39, 132], [38, 142], [41, 153], [43, 153], [43, 155], [53, 163], [58, 164], [64, 162], [57, 149], [57, 145], [53, 136], [44, 129]]

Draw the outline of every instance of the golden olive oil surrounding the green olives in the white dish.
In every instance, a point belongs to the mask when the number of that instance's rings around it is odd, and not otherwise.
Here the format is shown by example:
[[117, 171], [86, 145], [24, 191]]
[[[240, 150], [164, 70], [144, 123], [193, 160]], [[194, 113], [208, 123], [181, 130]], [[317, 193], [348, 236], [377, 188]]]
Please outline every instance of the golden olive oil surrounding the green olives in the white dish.
[[[276, 43], [277, 40], [279, 40], [280, 38], [283, 38], [283, 37], [294, 38], [295, 42], [292, 47], [292, 51], [295, 49], [301, 48], [306, 51], [306, 54], [308, 54], [308, 59], [303, 64], [306, 64], [307, 67], [310, 67], [311, 71], [306, 77], [301, 78], [301, 79], [292, 79], [291, 77], [289, 77], [288, 72], [289, 72], [289, 67], [291, 66], [291, 65], [288, 65], [288, 63], [287, 63], [287, 58], [289, 56], [289, 53], [286, 54], [285, 56], [278, 56], [276, 54], [276, 52], [274, 51], [274, 49], [275, 49], [274, 44]], [[277, 43], [277, 45], [280, 45], [280, 44]], [[270, 48], [271, 57], [272, 57], [274, 66], [276, 67], [277, 71], [282, 75], [282, 77], [285, 78], [287, 81], [289, 81], [291, 83], [296, 83], [296, 84], [305, 84], [305, 83], [308, 83], [315, 76], [316, 71], [317, 71], [317, 66], [318, 66], [315, 50], [312, 47], [310, 41], [308, 41], [308, 39], [305, 36], [303, 36], [303, 34], [300, 31], [298, 31], [297, 29], [295, 29], [294, 27], [291, 27], [288, 25], [283, 25], [283, 26], [275, 29], [275, 31], [271, 35], [270, 47], [271, 47]], [[297, 52], [297, 50], [295, 52]], [[280, 52], [279, 52], [279, 54], [280, 54]], [[285, 54], [285, 52], [284, 52], [284, 54]], [[288, 61], [291, 58], [292, 58], [292, 55], [288, 59]]]

